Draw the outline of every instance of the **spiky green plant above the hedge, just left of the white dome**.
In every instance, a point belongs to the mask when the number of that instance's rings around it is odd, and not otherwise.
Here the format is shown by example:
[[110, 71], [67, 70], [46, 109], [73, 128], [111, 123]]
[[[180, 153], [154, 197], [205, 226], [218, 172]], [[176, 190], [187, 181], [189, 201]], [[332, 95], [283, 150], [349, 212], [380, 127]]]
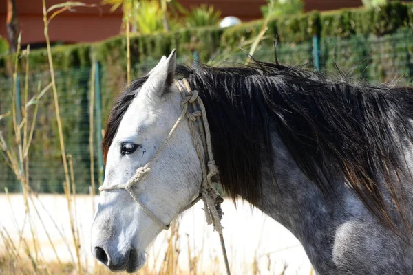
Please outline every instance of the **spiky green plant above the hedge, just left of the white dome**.
[[220, 10], [215, 10], [213, 5], [202, 4], [197, 8], [192, 8], [187, 14], [187, 27], [217, 25], [220, 16]]

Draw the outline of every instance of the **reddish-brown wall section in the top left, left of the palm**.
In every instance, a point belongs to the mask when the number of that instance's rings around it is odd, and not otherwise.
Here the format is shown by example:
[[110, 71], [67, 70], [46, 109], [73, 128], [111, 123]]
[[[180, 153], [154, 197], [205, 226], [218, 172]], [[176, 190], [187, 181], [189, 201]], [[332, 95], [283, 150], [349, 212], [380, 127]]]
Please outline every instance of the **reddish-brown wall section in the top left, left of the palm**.
[[[47, 0], [50, 7], [66, 0]], [[41, 43], [43, 34], [43, 11], [41, 0], [16, 0], [22, 44]], [[83, 3], [99, 3], [100, 0], [83, 0]], [[76, 12], [63, 12], [52, 19], [49, 27], [51, 41], [65, 43], [90, 42], [106, 39], [119, 33], [122, 14], [120, 10], [110, 13], [108, 6], [99, 8], [76, 8]], [[0, 3], [0, 35], [6, 33], [6, 1]]]

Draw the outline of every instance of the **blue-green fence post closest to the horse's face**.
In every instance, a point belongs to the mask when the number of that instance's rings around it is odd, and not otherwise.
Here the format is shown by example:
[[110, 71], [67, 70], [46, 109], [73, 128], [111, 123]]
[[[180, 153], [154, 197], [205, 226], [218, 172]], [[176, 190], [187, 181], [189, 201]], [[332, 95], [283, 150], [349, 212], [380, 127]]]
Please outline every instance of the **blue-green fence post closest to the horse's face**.
[[[98, 179], [99, 185], [103, 184], [103, 155], [102, 155], [102, 102], [100, 100], [100, 66], [98, 61], [95, 61], [95, 106], [96, 106], [96, 142], [98, 144]], [[93, 122], [92, 122], [93, 123]]]

